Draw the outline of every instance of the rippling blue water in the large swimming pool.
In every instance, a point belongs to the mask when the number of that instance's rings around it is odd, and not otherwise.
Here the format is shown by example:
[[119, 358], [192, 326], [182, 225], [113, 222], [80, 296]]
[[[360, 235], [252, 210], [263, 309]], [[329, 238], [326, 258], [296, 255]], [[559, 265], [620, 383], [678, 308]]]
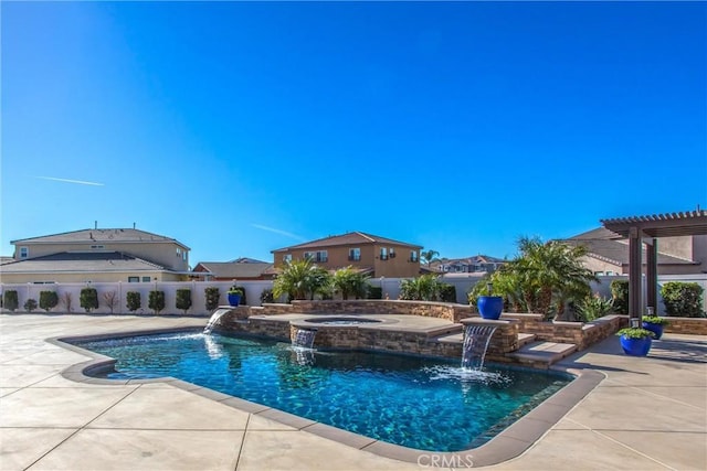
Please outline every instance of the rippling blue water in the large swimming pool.
[[203, 333], [76, 343], [117, 360], [110, 378], [177, 377], [404, 447], [483, 445], [569, 376], [368, 352], [313, 352]]

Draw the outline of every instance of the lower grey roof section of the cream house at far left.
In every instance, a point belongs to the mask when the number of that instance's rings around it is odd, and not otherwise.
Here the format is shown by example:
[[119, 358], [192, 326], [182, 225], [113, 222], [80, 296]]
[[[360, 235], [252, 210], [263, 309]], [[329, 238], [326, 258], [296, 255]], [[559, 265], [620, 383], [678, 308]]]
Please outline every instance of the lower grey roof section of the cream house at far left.
[[2, 265], [0, 272], [110, 272], [110, 271], [169, 271], [161, 265], [119, 251], [91, 251], [48, 255]]

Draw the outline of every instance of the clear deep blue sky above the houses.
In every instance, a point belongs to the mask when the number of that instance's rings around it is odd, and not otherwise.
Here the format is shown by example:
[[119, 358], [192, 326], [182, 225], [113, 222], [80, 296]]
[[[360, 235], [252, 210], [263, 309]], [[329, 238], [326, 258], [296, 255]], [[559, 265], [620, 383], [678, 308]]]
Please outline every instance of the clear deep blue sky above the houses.
[[443, 257], [707, 207], [704, 2], [2, 2], [1, 247]]

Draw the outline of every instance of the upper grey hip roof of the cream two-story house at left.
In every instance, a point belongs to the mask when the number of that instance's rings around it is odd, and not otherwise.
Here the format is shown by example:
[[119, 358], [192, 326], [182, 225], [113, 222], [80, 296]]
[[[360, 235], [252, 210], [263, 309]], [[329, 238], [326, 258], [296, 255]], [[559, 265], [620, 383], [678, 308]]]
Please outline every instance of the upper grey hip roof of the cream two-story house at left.
[[68, 233], [53, 234], [40, 237], [30, 237], [11, 240], [10, 244], [72, 244], [72, 243], [150, 243], [170, 242], [179, 244], [189, 249], [177, 239], [148, 233], [139, 229], [105, 228], [105, 229], [81, 229]]

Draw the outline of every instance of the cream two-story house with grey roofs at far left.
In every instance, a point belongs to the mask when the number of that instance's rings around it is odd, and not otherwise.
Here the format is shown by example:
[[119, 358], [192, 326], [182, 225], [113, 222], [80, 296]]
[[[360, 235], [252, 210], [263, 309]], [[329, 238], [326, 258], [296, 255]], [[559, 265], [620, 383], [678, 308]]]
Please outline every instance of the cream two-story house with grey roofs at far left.
[[184, 244], [136, 228], [93, 228], [11, 240], [0, 281], [178, 281], [189, 272]]

